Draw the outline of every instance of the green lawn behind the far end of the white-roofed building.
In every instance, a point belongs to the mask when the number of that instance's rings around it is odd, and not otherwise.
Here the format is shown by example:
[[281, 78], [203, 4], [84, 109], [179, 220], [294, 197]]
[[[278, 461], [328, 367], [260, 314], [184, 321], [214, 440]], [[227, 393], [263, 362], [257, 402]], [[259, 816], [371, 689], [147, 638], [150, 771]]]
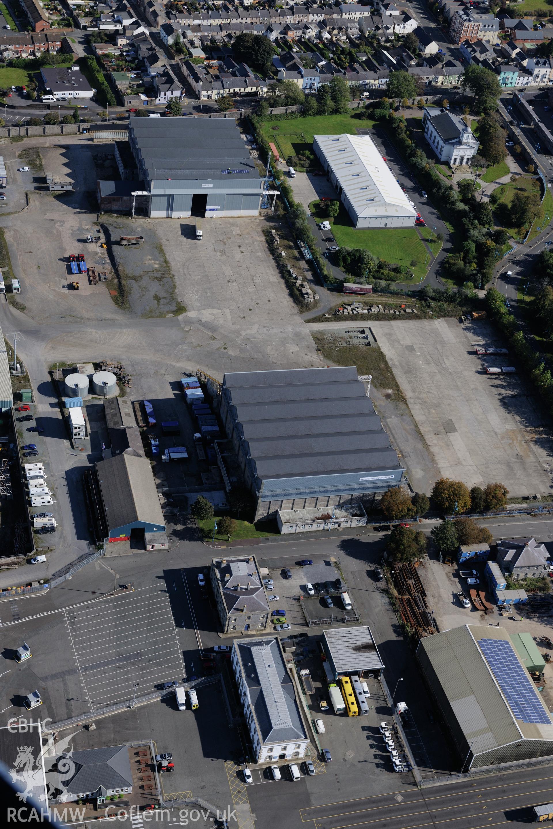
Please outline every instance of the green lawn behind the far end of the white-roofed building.
[[359, 127], [373, 127], [374, 121], [360, 121], [352, 115], [313, 115], [292, 121], [265, 121], [262, 131], [284, 158], [313, 149], [313, 135], [357, 134]]

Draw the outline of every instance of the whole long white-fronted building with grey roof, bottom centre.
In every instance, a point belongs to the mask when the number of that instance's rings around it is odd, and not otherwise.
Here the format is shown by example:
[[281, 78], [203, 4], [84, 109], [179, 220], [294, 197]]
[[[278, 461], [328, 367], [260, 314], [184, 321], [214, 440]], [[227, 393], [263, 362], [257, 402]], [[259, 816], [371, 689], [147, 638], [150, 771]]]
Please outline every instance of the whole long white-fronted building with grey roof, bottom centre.
[[235, 639], [231, 665], [254, 762], [303, 758], [309, 739], [279, 638]]

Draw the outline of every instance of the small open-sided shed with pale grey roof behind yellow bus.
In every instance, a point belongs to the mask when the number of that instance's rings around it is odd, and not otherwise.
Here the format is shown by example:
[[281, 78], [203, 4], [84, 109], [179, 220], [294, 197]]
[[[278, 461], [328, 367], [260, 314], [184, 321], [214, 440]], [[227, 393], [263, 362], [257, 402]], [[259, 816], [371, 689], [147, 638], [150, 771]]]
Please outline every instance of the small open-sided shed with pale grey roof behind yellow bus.
[[352, 674], [366, 679], [367, 676], [381, 676], [384, 670], [371, 628], [323, 630], [323, 647], [334, 679]]

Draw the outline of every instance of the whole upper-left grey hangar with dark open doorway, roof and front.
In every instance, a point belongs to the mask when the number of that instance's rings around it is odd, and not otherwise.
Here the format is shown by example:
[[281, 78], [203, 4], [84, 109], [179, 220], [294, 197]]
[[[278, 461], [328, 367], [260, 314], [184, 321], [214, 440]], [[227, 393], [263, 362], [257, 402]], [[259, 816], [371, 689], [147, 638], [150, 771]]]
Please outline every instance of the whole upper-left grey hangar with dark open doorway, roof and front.
[[263, 179], [235, 119], [129, 119], [148, 216], [258, 216]]

